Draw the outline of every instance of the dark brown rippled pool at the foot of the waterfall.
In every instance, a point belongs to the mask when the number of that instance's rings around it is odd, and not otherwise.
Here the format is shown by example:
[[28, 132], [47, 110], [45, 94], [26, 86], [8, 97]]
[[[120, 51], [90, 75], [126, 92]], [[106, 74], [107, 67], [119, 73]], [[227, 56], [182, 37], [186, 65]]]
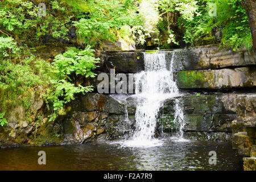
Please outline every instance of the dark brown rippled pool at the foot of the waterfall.
[[[46, 165], [38, 152], [46, 152]], [[217, 164], [209, 164], [216, 151]], [[156, 147], [113, 143], [0, 149], [0, 170], [242, 170], [242, 156], [229, 142], [174, 142]]]

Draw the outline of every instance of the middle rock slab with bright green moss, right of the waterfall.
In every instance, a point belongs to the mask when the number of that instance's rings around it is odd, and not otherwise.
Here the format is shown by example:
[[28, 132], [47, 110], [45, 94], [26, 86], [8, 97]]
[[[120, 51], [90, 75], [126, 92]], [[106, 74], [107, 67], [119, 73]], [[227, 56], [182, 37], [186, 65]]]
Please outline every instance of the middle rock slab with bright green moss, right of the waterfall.
[[256, 86], [256, 67], [177, 72], [181, 89], [223, 89]]

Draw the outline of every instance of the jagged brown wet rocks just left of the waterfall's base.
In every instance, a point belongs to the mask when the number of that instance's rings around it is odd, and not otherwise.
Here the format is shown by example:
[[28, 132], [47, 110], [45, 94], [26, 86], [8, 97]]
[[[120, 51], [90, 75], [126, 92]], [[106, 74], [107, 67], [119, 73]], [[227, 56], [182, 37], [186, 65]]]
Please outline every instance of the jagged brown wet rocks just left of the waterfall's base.
[[[60, 121], [64, 138], [75, 143], [85, 140], [125, 138], [134, 127], [134, 108], [103, 94], [86, 94], [73, 101], [72, 109]], [[132, 113], [127, 118], [126, 112]]]

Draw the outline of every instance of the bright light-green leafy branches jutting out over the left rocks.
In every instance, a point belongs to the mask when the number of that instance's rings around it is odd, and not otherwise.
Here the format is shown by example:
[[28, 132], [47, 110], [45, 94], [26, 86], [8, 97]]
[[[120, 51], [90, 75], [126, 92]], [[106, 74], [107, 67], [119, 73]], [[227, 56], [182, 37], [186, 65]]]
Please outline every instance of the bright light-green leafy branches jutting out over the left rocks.
[[[57, 55], [53, 65], [57, 69], [57, 76], [50, 80], [52, 87], [47, 90], [46, 101], [47, 104], [52, 103], [53, 115], [55, 119], [58, 112], [61, 112], [64, 104], [67, 104], [74, 99], [76, 93], [87, 93], [92, 91], [92, 86], [76, 86], [71, 82], [70, 75], [81, 75], [85, 77], [94, 77], [95, 73], [92, 72], [96, 68], [98, 58], [94, 57], [94, 50], [87, 46], [84, 50], [71, 47], [63, 54]], [[62, 99], [60, 99], [62, 98]]]

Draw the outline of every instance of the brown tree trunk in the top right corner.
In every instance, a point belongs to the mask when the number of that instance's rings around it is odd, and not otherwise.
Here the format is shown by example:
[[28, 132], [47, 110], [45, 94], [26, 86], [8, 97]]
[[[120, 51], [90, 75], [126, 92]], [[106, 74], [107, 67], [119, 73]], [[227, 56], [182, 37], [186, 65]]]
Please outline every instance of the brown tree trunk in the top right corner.
[[256, 0], [242, 0], [243, 7], [245, 7], [253, 36], [253, 49], [256, 52]]

